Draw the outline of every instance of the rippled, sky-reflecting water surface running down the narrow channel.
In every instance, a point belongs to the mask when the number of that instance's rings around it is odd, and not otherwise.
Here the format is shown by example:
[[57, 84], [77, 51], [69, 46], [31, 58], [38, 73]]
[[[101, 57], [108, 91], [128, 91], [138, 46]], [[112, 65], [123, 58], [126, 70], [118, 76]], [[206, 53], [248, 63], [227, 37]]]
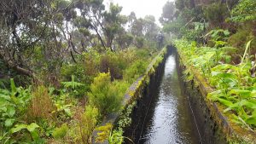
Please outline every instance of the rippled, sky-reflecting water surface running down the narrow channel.
[[150, 103], [143, 133], [137, 143], [147, 144], [195, 144], [193, 119], [189, 115], [186, 96], [182, 94], [177, 77], [175, 55], [166, 60], [165, 72], [159, 92]]

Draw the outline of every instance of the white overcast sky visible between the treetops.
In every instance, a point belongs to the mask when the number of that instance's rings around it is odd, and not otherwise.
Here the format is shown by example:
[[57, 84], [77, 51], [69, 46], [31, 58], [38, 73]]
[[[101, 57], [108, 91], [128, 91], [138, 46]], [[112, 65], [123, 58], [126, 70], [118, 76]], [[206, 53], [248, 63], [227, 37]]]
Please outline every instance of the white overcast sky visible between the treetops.
[[137, 18], [145, 15], [154, 15], [155, 20], [159, 24], [159, 18], [162, 14], [162, 8], [167, 1], [173, 0], [104, 0], [104, 3], [118, 3], [122, 6], [122, 14], [129, 15], [134, 11]]

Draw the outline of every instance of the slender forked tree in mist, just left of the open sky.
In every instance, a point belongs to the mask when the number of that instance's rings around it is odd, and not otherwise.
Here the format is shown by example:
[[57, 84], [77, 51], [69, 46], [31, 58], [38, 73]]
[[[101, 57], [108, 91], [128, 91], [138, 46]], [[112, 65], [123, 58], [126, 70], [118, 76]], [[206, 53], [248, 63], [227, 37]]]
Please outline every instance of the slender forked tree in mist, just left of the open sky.
[[102, 47], [111, 48], [114, 37], [126, 23], [125, 15], [120, 14], [122, 8], [110, 3], [109, 10], [106, 11], [102, 0], [78, 1], [74, 5], [81, 13], [75, 20], [79, 32], [84, 37], [90, 37], [95, 32]]

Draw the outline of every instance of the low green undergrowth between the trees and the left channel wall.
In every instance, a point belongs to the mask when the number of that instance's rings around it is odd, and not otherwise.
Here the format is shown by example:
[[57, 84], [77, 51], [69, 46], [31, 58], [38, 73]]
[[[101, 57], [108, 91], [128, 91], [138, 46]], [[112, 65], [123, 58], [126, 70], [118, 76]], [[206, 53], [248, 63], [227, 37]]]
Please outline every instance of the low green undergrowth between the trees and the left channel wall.
[[[90, 63], [90, 67], [95, 67], [91, 69], [93, 72], [83, 66], [84, 57], [90, 60], [88, 55], [81, 55], [77, 64], [63, 66], [66, 69], [61, 77], [66, 82], [61, 82], [59, 88], [40, 83], [27, 89], [17, 88], [11, 79], [10, 90], [0, 90], [1, 139], [90, 143], [96, 125], [109, 113], [120, 110], [126, 89], [146, 71], [148, 61], [156, 52], [149, 49], [104, 54], [92, 51], [91, 54], [97, 55], [96, 59], [90, 57], [95, 61]], [[121, 77], [116, 79], [115, 75]]]

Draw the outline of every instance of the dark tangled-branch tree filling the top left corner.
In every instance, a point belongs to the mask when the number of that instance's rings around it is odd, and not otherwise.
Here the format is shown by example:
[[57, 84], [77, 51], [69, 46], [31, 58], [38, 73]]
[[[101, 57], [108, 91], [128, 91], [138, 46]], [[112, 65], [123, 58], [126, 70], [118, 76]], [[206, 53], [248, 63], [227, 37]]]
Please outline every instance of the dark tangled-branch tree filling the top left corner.
[[43, 9], [48, 1], [3, 0], [0, 3], [0, 59], [28, 76], [32, 51], [47, 33], [49, 15]]

